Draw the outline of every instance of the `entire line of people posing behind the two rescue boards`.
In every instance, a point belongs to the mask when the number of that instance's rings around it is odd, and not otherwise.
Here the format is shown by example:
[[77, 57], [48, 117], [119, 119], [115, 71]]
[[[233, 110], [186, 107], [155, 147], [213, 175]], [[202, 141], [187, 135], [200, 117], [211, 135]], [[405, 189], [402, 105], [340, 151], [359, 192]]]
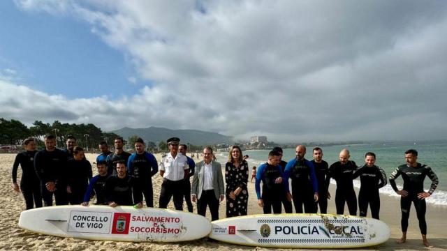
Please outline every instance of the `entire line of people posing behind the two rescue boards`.
[[[152, 153], [145, 151], [145, 142], [140, 138], [135, 142], [133, 154], [124, 151], [124, 142], [120, 137], [114, 140], [114, 152], [108, 150], [106, 142], [101, 142], [101, 154], [96, 158], [98, 175], [92, 177], [90, 162], [85, 159], [83, 149], [76, 146], [74, 137], [68, 137], [67, 148], [60, 150], [55, 147], [54, 136], [49, 135], [45, 137], [45, 149], [41, 151], [36, 151], [34, 139], [26, 139], [26, 151], [17, 154], [13, 165], [13, 189], [22, 191], [27, 209], [34, 205], [52, 206], [53, 195], [57, 205], [88, 206], [95, 195], [95, 204], [141, 208], [144, 197], [147, 206], [153, 207], [152, 176], [159, 173], [163, 178], [160, 208], [166, 208], [173, 198], [175, 209], [182, 211], [186, 201], [188, 211], [192, 212], [192, 202], [196, 202], [200, 215], [205, 216], [206, 208], [209, 207], [212, 220], [218, 220], [219, 202], [226, 199], [227, 218], [247, 215], [250, 169], [240, 147], [230, 148], [224, 183], [221, 164], [215, 160], [211, 147], [203, 149], [203, 160], [196, 164], [186, 156], [187, 146], [179, 142], [177, 137], [167, 140], [169, 153], [162, 156], [160, 165]], [[263, 208], [264, 213], [281, 213], [283, 206], [286, 213], [293, 213], [293, 207], [296, 213], [317, 213], [318, 208], [320, 213], [327, 213], [328, 199], [331, 198], [328, 187], [333, 178], [337, 184], [337, 214], [344, 214], [344, 206], [347, 204], [350, 215], [356, 215], [359, 208], [360, 216], [366, 216], [369, 205], [372, 218], [379, 219], [379, 188], [386, 185], [387, 178], [383, 169], [374, 165], [374, 153], [365, 154], [365, 165], [362, 167], [349, 160], [347, 149], [343, 149], [339, 153], [339, 161], [330, 166], [323, 160], [321, 148], [314, 148], [312, 153], [313, 160], [307, 160], [306, 147], [299, 145], [295, 149], [295, 158], [285, 162], [281, 160], [283, 151], [280, 147], [270, 151], [268, 162], [258, 167], [255, 176], [258, 206]], [[428, 245], [425, 198], [430, 197], [437, 188], [438, 178], [430, 167], [417, 162], [417, 156], [416, 150], [406, 151], [406, 164], [397, 167], [389, 180], [393, 189], [401, 195], [400, 242], [406, 241], [409, 208], [413, 203], [423, 243]], [[22, 167], [20, 188], [17, 185], [19, 165]], [[399, 190], [395, 179], [401, 175], [404, 187]], [[423, 190], [425, 176], [432, 180], [428, 192]], [[353, 179], [357, 177], [360, 177], [361, 183], [358, 202], [353, 188]]]

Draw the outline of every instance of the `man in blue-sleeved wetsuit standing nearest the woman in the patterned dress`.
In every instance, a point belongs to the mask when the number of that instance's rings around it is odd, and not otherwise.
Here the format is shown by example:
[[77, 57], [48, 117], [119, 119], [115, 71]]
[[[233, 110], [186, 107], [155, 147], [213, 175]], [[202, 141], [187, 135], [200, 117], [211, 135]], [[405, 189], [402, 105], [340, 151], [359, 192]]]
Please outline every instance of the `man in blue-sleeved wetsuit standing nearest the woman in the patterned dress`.
[[[264, 213], [281, 213], [281, 199], [286, 193], [286, 185], [279, 161], [281, 153], [270, 151], [268, 162], [260, 165], [256, 172], [255, 189], [258, 196], [258, 206], [263, 208]], [[261, 181], [263, 190], [261, 194]]]

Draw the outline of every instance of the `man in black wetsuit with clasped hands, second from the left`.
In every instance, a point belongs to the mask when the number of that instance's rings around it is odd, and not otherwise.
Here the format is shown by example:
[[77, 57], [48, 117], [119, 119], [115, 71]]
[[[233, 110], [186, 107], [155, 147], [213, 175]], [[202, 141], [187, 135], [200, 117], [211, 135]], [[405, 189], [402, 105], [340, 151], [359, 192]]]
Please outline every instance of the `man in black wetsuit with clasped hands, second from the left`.
[[52, 206], [53, 195], [56, 205], [67, 205], [66, 165], [67, 154], [57, 149], [53, 135], [45, 137], [45, 149], [34, 157], [34, 168], [41, 181], [44, 206]]

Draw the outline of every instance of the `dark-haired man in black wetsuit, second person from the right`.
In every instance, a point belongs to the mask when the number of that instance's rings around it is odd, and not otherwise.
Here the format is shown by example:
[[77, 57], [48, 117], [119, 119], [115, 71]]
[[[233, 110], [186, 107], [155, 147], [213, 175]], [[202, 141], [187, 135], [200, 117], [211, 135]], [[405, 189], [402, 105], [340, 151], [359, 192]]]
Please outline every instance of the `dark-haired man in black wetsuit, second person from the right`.
[[358, 209], [360, 216], [366, 216], [368, 204], [371, 207], [371, 216], [379, 220], [380, 196], [379, 188], [386, 185], [386, 174], [383, 169], [374, 165], [376, 154], [365, 154], [365, 165], [353, 174], [353, 178], [360, 176], [360, 192], [358, 192]]

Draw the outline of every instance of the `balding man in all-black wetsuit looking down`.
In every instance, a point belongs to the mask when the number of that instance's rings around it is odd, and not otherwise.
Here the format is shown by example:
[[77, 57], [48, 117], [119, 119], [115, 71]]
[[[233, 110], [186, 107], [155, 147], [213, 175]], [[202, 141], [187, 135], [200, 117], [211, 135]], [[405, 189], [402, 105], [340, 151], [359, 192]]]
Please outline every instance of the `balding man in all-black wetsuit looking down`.
[[339, 161], [330, 165], [328, 178], [325, 185], [329, 187], [330, 178], [334, 178], [337, 183], [335, 190], [335, 207], [337, 214], [344, 213], [344, 203], [348, 204], [349, 214], [357, 214], [357, 198], [354, 185], [352, 183], [353, 174], [358, 169], [356, 162], [349, 160], [349, 151], [343, 149], [339, 154]]

